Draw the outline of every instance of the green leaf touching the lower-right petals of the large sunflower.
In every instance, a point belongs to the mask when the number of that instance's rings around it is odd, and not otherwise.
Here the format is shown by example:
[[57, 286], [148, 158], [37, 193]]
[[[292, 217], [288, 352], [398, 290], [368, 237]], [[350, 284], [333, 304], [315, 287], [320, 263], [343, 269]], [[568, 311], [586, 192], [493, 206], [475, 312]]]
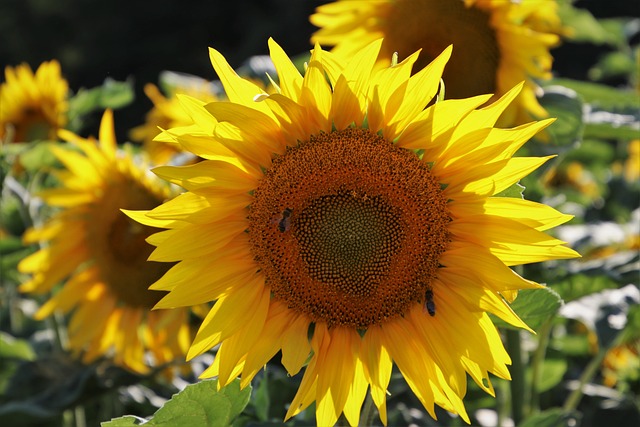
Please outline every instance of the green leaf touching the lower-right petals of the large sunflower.
[[[531, 329], [537, 330], [558, 312], [561, 305], [560, 295], [549, 288], [523, 289], [518, 292], [518, 298], [511, 304], [511, 308]], [[491, 315], [491, 318], [496, 326], [518, 329], [496, 316]]]

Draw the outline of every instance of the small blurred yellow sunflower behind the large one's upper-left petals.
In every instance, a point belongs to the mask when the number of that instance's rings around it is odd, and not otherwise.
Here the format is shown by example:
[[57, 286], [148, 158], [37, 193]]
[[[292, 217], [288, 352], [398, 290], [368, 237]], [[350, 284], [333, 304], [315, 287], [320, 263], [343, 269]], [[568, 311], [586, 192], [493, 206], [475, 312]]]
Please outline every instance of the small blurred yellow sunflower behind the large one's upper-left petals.
[[[192, 80], [193, 81], [193, 80]], [[144, 93], [153, 102], [153, 108], [147, 113], [145, 124], [130, 132], [132, 141], [142, 142], [149, 158], [155, 164], [166, 164], [173, 156], [181, 151], [180, 146], [171, 141], [161, 141], [155, 138], [161, 133], [160, 129], [190, 125], [191, 117], [181, 108], [179, 95], [188, 94], [205, 102], [217, 100], [209, 89], [209, 83], [201, 81], [190, 87], [177, 87], [166, 97], [154, 84], [147, 84]]]

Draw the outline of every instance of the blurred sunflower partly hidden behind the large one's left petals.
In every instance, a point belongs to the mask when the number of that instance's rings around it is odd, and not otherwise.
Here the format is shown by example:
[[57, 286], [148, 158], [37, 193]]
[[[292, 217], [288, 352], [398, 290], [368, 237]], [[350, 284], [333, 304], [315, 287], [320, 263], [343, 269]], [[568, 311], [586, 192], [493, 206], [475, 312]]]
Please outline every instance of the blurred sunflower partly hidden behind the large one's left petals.
[[87, 363], [112, 354], [115, 363], [146, 373], [146, 350], [158, 366], [184, 356], [192, 338], [188, 310], [150, 311], [165, 293], [147, 288], [170, 267], [146, 260], [153, 247], [145, 239], [158, 230], [120, 211], [160, 205], [171, 196], [168, 186], [136, 165], [131, 152], [117, 150], [111, 111], [102, 118], [98, 144], [69, 131], [60, 136], [76, 149], [51, 148], [67, 170], [54, 172], [62, 188], [40, 196], [61, 209], [25, 233], [26, 242], [43, 247], [18, 269], [32, 275], [23, 292], [48, 293], [62, 280], [64, 286], [35, 317], [73, 309], [69, 348]]

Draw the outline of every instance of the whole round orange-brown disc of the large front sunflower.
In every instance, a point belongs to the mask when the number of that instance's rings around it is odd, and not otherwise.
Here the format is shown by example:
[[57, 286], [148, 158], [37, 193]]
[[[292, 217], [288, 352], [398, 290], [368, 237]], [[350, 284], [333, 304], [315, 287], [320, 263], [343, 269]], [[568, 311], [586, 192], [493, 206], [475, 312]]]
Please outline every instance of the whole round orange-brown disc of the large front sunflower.
[[414, 152], [366, 129], [321, 133], [265, 171], [253, 255], [290, 309], [367, 328], [424, 299], [449, 241], [446, 203]]

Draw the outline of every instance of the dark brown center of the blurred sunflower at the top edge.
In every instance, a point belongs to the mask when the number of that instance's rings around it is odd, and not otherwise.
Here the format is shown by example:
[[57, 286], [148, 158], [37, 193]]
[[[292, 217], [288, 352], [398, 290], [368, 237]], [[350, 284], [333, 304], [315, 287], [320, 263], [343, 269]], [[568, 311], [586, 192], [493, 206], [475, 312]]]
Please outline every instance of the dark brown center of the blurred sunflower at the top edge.
[[443, 80], [447, 98], [494, 93], [500, 49], [489, 14], [462, 0], [398, 0], [390, 8], [382, 54], [406, 58], [422, 49], [414, 69], [429, 65], [453, 44]]

